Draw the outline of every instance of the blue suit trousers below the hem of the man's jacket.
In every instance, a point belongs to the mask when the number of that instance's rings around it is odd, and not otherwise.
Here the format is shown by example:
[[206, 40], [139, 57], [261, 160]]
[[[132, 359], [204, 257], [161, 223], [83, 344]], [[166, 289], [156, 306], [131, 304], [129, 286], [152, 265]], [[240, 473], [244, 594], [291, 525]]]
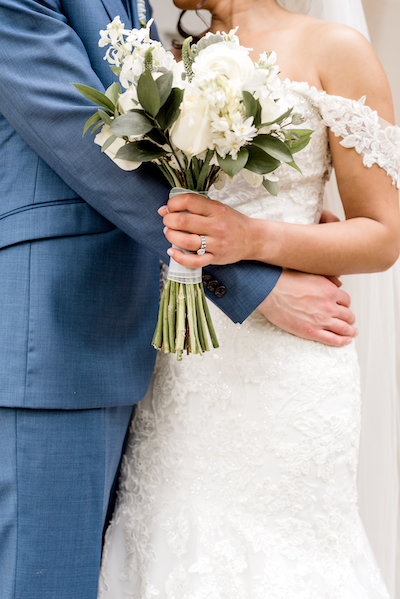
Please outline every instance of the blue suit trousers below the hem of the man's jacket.
[[96, 599], [131, 413], [0, 408], [1, 599]]

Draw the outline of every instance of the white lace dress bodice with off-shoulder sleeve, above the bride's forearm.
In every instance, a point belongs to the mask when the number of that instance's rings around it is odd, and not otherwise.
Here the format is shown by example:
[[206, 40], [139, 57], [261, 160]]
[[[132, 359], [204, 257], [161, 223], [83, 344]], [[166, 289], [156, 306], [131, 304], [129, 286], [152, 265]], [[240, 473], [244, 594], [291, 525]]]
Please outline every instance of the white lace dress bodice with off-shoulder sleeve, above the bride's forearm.
[[[304, 127], [313, 129], [311, 141], [295, 155], [302, 174], [282, 165], [279, 176], [279, 194], [273, 197], [261, 186], [251, 188], [237, 177], [231, 186], [211, 191], [218, 199], [254, 218], [312, 224], [319, 221], [324, 187], [331, 172], [328, 127], [341, 137], [341, 144], [354, 148], [364, 166], [378, 164], [400, 188], [400, 128], [379, 118], [376, 111], [359, 101], [332, 96], [311, 87], [308, 83], [282, 82], [286, 107], [294, 107], [305, 118]], [[233, 192], [233, 193], [232, 193]]]

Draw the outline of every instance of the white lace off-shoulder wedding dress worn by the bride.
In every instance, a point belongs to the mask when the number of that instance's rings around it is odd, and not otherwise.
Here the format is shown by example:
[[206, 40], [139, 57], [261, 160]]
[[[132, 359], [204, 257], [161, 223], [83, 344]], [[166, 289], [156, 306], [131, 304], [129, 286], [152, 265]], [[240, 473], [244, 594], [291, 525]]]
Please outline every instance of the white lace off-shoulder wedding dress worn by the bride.
[[[276, 198], [240, 176], [212, 197], [256, 218], [318, 222], [328, 126], [398, 183], [397, 128], [363, 101], [282, 89], [315, 130], [296, 155], [303, 175], [281, 167]], [[221, 347], [182, 363], [160, 354], [137, 408], [99, 599], [387, 599], [357, 508], [354, 344], [211, 311]]]

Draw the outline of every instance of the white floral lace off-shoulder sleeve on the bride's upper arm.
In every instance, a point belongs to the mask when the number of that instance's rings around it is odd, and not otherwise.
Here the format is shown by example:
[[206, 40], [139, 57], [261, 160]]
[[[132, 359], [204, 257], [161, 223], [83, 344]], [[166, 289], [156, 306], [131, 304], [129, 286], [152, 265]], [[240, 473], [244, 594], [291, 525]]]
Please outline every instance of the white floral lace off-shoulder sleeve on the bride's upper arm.
[[319, 107], [325, 124], [345, 148], [355, 148], [362, 154], [363, 163], [370, 168], [378, 164], [400, 189], [400, 127], [391, 125], [365, 105], [340, 96], [324, 94]]

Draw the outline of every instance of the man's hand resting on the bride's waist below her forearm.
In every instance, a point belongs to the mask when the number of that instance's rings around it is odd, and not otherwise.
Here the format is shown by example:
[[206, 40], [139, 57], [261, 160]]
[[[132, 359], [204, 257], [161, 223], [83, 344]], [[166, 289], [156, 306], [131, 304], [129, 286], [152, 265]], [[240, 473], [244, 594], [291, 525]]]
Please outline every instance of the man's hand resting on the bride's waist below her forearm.
[[333, 347], [357, 335], [350, 296], [336, 278], [284, 270], [258, 310], [277, 327]]

